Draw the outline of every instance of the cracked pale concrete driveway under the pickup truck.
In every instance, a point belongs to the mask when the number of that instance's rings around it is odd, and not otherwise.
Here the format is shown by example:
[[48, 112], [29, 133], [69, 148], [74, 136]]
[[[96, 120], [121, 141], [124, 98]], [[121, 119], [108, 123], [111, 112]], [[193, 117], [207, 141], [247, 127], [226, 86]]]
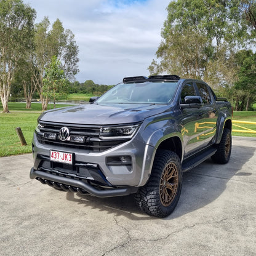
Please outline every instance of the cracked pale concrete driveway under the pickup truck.
[[31, 154], [0, 158], [1, 255], [256, 255], [256, 140], [230, 163], [184, 174], [177, 208], [149, 217], [133, 196], [93, 198], [30, 180]]

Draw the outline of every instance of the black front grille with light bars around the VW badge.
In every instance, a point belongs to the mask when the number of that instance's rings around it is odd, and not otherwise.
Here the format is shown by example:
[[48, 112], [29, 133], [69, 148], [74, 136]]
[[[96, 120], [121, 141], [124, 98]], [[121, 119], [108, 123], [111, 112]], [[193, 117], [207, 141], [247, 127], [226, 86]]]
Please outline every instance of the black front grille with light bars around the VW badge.
[[[102, 152], [127, 142], [129, 139], [102, 140], [100, 139], [100, 126], [82, 126], [70, 124], [52, 124], [40, 122], [40, 131], [36, 132], [38, 142], [44, 145], [62, 146], [66, 148], [79, 148], [83, 150]], [[70, 139], [60, 140], [60, 129], [68, 127]], [[77, 138], [80, 138], [78, 141]]]

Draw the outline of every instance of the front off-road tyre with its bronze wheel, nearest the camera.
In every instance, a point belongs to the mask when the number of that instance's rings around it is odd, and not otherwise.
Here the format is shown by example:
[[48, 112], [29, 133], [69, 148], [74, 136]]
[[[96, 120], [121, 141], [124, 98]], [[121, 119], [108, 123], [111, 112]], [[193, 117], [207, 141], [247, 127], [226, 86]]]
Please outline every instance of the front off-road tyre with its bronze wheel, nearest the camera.
[[172, 151], [156, 153], [151, 175], [135, 194], [138, 207], [148, 215], [164, 218], [172, 213], [182, 191], [182, 165]]

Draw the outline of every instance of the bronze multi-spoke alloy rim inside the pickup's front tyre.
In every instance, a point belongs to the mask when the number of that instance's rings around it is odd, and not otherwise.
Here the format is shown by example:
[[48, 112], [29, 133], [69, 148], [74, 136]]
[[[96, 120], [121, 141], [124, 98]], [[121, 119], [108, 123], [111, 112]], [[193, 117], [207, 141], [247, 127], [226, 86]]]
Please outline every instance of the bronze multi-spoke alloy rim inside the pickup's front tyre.
[[178, 190], [178, 168], [174, 162], [167, 163], [162, 172], [159, 190], [162, 205], [169, 206]]

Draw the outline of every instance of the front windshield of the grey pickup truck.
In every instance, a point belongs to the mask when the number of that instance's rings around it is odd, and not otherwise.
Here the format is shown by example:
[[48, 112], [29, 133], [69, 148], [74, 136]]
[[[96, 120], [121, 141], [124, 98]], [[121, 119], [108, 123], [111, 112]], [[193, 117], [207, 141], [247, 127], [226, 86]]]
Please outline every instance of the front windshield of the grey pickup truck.
[[167, 104], [174, 97], [177, 82], [140, 82], [118, 84], [108, 90], [97, 103]]

